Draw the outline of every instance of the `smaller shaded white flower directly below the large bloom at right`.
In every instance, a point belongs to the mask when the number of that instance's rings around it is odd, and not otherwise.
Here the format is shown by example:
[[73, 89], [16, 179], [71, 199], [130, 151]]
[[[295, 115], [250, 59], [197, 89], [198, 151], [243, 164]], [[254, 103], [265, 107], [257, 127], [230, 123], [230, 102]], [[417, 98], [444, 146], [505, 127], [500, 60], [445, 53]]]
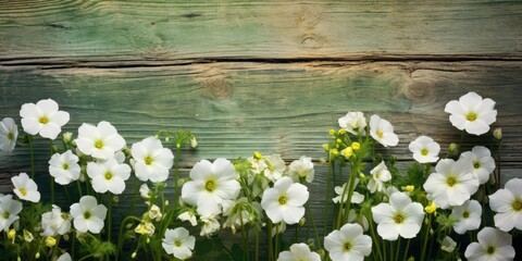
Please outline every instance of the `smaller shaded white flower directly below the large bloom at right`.
[[462, 235], [481, 226], [482, 207], [476, 200], [467, 200], [462, 206], [453, 207], [451, 216], [456, 220], [453, 229]]

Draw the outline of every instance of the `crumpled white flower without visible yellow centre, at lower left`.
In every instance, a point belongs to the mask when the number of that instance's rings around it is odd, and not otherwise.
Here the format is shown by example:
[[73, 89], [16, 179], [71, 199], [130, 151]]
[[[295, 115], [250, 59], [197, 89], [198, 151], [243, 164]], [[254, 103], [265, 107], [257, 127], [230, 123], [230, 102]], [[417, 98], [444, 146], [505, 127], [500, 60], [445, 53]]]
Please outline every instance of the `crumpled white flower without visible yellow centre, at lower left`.
[[66, 234], [71, 229], [71, 215], [63, 213], [60, 207], [53, 204], [51, 211], [41, 214], [44, 232], [40, 235], [53, 237]]

